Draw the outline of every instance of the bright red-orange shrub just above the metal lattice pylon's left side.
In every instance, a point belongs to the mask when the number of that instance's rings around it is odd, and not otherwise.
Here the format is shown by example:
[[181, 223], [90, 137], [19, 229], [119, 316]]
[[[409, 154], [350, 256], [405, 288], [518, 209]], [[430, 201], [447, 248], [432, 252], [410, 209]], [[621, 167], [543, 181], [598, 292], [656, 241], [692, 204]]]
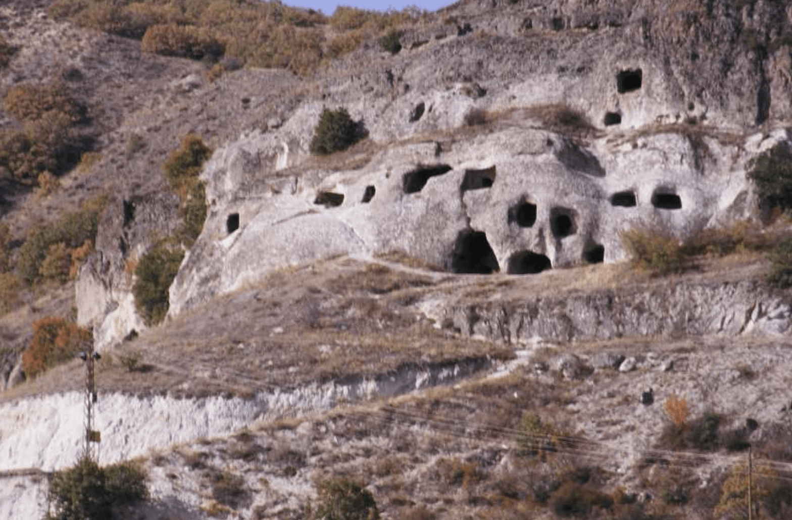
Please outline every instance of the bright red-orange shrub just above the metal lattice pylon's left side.
[[67, 362], [93, 340], [91, 332], [59, 317], [33, 322], [33, 338], [22, 354], [22, 369], [27, 377]]

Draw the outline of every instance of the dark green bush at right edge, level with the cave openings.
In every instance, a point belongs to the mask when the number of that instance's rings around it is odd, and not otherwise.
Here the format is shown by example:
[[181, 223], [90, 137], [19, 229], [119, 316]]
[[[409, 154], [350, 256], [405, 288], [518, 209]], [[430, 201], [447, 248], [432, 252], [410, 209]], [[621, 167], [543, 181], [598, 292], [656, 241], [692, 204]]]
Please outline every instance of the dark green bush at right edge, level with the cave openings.
[[792, 150], [785, 142], [773, 146], [751, 161], [748, 178], [756, 184], [760, 209], [792, 209]]

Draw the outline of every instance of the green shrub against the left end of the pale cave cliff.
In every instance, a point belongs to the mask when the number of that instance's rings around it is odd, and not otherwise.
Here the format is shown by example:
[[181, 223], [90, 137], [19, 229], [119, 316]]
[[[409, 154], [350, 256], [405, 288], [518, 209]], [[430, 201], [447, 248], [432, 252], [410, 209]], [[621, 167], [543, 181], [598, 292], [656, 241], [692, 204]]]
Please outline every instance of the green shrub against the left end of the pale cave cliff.
[[135, 268], [135, 306], [146, 325], [165, 319], [169, 309], [168, 289], [179, 271], [185, 252], [166, 243], [154, 246], [143, 255]]

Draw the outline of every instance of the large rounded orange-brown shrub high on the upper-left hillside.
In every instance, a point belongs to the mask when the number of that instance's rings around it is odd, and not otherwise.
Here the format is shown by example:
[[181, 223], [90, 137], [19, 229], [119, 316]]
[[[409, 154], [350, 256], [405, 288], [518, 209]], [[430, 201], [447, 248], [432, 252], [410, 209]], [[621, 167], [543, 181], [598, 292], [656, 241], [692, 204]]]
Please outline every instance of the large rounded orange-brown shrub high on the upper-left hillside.
[[143, 35], [140, 48], [144, 52], [190, 59], [216, 61], [225, 47], [207, 32], [192, 25], [151, 25]]

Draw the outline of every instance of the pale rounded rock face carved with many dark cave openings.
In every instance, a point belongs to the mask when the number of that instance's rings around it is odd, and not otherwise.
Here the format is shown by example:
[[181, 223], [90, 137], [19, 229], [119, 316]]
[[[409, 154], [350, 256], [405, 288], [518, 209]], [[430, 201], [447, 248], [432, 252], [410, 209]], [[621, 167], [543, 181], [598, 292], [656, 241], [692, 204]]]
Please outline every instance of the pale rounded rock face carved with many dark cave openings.
[[276, 167], [280, 145], [249, 135], [204, 169], [210, 212], [171, 287], [170, 314], [338, 255], [400, 251], [451, 272], [513, 275], [623, 260], [623, 230], [683, 239], [748, 216], [746, 165], [779, 139], [738, 146], [657, 133], [587, 146], [511, 127], [395, 146], [361, 169], [256, 184]]

